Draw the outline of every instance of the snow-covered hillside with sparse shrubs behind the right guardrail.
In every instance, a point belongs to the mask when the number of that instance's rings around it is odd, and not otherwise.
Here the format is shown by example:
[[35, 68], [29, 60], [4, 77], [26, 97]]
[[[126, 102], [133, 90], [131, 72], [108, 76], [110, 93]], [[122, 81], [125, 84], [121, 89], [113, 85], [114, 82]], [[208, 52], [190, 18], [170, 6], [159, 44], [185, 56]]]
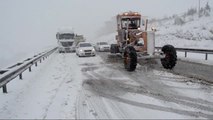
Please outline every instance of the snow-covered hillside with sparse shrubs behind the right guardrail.
[[172, 44], [181, 48], [213, 48], [213, 14], [210, 16], [180, 17], [184, 21], [182, 25], [175, 24], [176, 18], [170, 18], [155, 23], [156, 46]]

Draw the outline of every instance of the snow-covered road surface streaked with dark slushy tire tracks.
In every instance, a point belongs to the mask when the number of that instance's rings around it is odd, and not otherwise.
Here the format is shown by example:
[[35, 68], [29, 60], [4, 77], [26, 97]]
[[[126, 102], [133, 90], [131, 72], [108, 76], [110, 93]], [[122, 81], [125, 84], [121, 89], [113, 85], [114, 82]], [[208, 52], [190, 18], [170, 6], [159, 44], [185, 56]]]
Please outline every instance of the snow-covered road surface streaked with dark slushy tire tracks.
[[[103, 55], [102, 55], [103, 56]], [[0, 118], [213, 118], [213, 87], [101, 56], [54, 53], [0, 94]]]

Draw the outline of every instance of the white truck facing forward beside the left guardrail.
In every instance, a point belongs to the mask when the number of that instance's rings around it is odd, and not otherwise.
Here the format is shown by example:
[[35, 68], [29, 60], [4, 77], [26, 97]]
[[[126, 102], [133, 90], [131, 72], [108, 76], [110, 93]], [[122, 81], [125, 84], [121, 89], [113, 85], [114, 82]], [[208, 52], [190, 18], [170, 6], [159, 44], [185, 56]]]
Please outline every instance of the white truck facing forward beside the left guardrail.
[[75, 46], [75, 34], [71, 30], [60, 30], [56, 34], [58, 40], [58, 51], [59, 53], [74, 52]]

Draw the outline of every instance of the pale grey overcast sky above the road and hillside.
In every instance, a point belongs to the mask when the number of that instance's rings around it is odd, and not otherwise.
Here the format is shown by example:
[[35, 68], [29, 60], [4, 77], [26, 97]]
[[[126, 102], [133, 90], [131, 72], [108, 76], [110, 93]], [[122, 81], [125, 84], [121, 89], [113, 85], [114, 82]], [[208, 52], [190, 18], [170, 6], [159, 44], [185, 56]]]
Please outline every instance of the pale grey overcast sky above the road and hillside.
[[[201, 0], [204, 6], [212, 0]], [[150, 18], [198, 7], [198, 0], [0, 0], [0, 47], [56, 43], [58, 28], [74, 28], [93, 39], [105, 21], [124, 11]], [[19, 41], [22, 41], [19, 43]]]

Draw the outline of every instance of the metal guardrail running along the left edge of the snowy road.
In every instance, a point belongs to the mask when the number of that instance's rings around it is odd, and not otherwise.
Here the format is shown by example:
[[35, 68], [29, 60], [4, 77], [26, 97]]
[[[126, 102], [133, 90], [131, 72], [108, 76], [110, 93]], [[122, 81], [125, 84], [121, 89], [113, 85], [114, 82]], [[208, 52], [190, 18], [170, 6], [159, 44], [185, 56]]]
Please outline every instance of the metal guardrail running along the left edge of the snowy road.
[[45, 58], [47, 58], [50, 54], [52, 54], [58, 48], [53, 48], [46, 52], [39, 53], [32, 58], [28, 58], [23, 62], [19, 62], [13, 66], [8, 67], [7, 69], [0, 70], [0, 88], [3, 88], [3, 93], [7, 93], [7, 83], [19, 76], [19, 79], [23, 79], [22, 73], [29, 69], [31, 72], [31, 67], [35, 64], [37, 67], [38, 62], [42, 62]]

